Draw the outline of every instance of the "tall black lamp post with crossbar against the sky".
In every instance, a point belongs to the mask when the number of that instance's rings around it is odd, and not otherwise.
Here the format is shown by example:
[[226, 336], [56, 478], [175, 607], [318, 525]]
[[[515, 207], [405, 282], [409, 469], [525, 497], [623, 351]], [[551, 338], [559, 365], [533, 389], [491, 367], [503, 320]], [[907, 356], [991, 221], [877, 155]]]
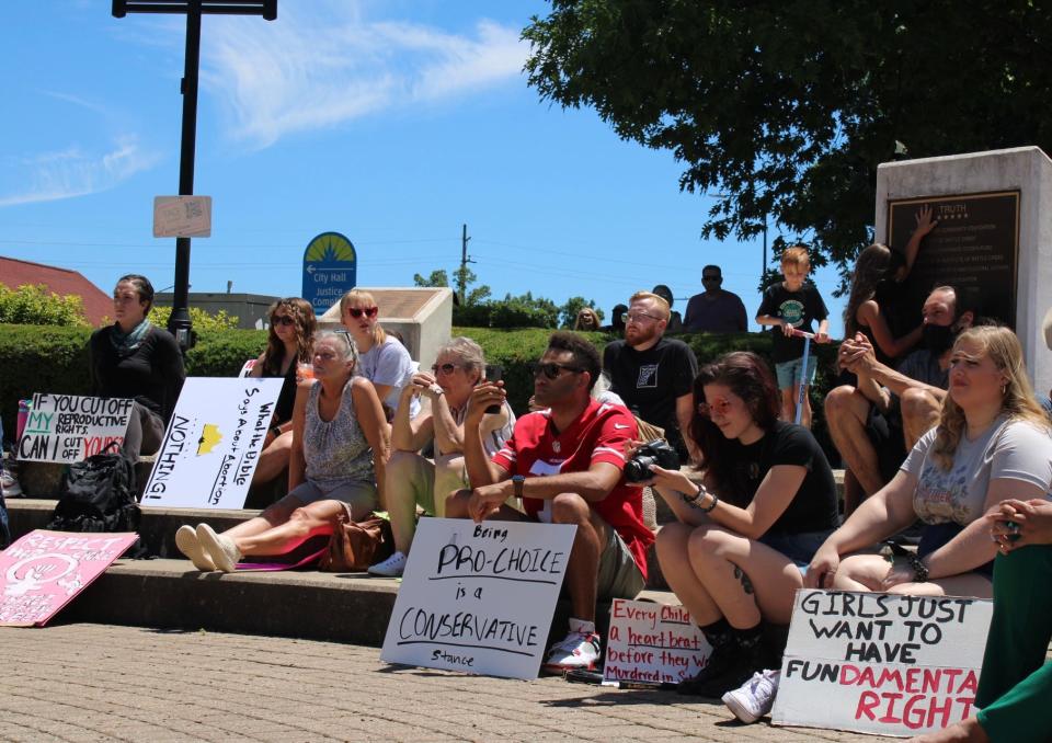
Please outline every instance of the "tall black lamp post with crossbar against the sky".
[[[183, 134], [179, 151], [179, 195], [194, 193], [194, 150], [197, 139], [197, 70], [201, 66], [202, 15], [277, 18], [277, 0], [113, 0], [113, 15], [183, 13], [186, 15], [186, 66], [183, 71]], [[190, 238], [175, 238], [175, 286], [168, 330], [183, 353], [194, 345], [190, 322]]]

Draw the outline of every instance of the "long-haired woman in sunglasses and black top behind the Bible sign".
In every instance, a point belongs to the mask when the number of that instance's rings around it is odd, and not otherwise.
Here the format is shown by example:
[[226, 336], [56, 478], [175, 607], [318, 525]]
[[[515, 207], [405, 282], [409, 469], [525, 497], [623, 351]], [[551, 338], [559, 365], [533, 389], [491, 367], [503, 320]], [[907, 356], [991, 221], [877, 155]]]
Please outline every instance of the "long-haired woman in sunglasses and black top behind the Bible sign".
[[255, 361], [250, 377], [281, 377], [282, 391], [274, 405], [271, 430], [266, 432], [263, 451], [252, 482], [270, 482], [288, 467], [293, 449], [293, 405], [296, 402], [296, 385], [304, 376], [300, 365], [310, 364], [315, 343], [315, 309], [299, 297], [278, 299], [267, 310], [271, 329], [266, 350]]

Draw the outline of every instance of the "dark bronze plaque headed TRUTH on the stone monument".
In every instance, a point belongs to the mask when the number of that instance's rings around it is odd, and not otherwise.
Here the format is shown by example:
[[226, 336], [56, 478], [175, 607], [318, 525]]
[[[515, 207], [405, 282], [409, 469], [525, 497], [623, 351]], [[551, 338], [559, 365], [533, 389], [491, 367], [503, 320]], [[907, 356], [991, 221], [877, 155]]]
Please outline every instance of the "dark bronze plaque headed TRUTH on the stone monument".
[[888, 202], [888, 239], [902, 253], [916, 227], [916, 214], [928, 204], [936, 228], [921, 243], [906, 279], [905, 319], [921, 321], [931, 289], [951, 284], [979, 297], [980, 312], [1016, 327], [1016, 279], [1019, 258], [1019, 192]]

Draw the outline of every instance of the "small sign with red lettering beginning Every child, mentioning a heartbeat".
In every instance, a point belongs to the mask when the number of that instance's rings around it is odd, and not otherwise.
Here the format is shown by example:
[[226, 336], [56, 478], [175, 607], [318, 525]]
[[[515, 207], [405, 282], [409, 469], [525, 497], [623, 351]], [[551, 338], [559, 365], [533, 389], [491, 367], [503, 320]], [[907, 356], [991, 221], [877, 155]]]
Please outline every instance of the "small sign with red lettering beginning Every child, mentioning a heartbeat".
[[615, 598], [603, 682], [678, 684], [701, 671], [711, 651], [685, 607]]

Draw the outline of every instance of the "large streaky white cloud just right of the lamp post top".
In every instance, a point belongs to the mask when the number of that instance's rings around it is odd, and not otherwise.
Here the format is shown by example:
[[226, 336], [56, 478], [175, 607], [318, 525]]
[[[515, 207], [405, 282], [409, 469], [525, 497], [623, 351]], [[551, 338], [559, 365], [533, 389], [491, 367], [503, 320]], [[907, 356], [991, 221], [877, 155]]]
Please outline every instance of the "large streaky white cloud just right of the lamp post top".
[[370, 22], [350, 2], [309, 8], [285, 5], [274, 23], [228, 19], [203, 34], [202, 84], [228, 107], [235, 139], [264, 148], [287, 134], [453, 100], [518, 78], [528, 52], [517, 28], [492, 21], [457, 35]]

